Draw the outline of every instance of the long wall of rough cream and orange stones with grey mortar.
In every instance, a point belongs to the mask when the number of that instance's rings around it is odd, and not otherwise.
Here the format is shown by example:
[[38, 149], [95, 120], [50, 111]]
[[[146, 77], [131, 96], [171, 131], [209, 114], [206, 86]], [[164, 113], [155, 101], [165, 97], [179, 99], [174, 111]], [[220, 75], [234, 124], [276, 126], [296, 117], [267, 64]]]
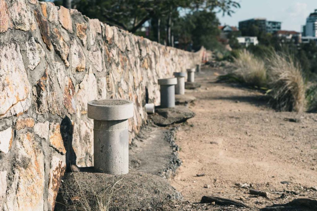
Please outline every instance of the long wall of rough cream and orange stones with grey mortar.
[[[77, 10], [0, 0], [0, 210], [52, 210], [66, 162], [93, 165], [87, 102], [134, 102], [131, 139], [159, 78], [201, 61]], [[147, 91], [146, 91], [147, 90]]]

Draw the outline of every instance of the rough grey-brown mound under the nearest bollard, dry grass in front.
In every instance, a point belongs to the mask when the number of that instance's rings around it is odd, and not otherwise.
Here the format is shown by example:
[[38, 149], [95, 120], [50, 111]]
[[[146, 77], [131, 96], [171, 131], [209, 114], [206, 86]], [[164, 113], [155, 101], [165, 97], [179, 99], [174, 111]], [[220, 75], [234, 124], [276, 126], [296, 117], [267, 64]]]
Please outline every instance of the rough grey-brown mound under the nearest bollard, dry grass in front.
[[55, 210], [99, 210], [101, 205], [105, 210], [158, 210], [180, 198], [166, 179], [152, 174], [74, 172], [63, 177]]

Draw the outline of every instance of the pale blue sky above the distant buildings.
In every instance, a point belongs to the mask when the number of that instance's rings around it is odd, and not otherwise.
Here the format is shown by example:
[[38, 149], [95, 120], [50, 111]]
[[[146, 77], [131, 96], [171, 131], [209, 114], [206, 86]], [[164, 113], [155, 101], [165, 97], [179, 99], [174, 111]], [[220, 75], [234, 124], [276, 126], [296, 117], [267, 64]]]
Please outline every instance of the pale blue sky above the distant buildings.
[[301, 32], [306, 18], [317, 9], [317, 0], [236, 0], [241, 8], [235, 9], [231, 17], [217, 16], [221, 25], [238, 26], [239, 21], [250, 18], [267, 18], [269, 21], [282, 22], [282, 30]]

